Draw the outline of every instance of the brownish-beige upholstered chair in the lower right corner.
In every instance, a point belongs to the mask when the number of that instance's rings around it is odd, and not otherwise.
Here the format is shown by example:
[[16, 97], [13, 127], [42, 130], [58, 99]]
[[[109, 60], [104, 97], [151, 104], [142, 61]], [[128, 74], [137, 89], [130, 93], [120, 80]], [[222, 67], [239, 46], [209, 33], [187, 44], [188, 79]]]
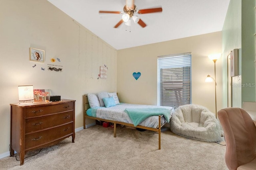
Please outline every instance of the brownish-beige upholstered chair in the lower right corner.
[[226, 140], [225, 161], [230, 170], [256, 169], [256, 126], [241, 108], [218, 111]]

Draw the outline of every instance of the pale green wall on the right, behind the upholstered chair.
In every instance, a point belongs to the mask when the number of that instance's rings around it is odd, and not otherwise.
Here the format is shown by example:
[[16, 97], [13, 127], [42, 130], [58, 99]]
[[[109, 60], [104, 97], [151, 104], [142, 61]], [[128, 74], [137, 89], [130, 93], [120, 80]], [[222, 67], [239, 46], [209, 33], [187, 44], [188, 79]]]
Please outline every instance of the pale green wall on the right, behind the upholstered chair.
[[238, 49], [238, 74], [232, 77], [232, 106], [255, 102], [255, 0], [230, 0], [222, 29], [223, 107], [227, 107], [227, 56]]

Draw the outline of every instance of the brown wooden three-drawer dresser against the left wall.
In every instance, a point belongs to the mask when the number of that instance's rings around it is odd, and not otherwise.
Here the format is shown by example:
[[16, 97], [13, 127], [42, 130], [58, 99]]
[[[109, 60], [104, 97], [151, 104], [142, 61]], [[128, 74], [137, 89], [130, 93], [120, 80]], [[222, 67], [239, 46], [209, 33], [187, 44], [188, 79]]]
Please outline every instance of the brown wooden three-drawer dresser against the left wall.
[[20, 165], [30, 150], [75, 139], [75, 100], [10, 104], [10, 155], [20, 155]]

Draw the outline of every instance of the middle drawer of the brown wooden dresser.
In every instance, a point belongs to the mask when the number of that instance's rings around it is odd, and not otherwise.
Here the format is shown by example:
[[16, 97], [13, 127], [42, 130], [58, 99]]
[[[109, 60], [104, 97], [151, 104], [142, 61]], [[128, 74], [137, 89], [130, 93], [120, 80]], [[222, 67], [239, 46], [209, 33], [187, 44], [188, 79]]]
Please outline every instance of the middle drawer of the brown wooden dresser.
[[73, 121], [73, 111], [66, 111], [25, 120], [25, 134]]

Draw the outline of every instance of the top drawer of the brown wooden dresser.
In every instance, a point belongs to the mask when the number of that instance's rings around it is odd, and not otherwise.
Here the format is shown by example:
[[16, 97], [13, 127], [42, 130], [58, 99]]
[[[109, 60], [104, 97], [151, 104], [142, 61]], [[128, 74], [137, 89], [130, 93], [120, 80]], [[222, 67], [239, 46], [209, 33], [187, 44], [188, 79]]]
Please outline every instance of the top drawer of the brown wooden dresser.
[[39, 115], [46, 115], [49, 113], [56, 113], [62, 111], [73, 110], [73, 102], [63, 103], [58, 105], [49, 105], [41, 107], [28, 107], [26, 108], [26, 117], [36, 117]]

